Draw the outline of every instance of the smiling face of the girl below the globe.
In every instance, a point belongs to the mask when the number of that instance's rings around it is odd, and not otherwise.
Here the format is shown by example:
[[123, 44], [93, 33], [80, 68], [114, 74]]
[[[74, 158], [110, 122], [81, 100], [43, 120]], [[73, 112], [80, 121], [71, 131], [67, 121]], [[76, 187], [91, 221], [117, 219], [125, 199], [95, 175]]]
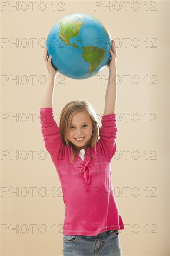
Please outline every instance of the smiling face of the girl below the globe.
[[[68, 131], [68, 140], [71, 141], [79, 151], [83, 148], [85, 143], [90, 140], [94, 129], [90, 116], [85, 111], [77, 112], [72, 117]], [[77, 140], [78, 138], [81, 140]]]

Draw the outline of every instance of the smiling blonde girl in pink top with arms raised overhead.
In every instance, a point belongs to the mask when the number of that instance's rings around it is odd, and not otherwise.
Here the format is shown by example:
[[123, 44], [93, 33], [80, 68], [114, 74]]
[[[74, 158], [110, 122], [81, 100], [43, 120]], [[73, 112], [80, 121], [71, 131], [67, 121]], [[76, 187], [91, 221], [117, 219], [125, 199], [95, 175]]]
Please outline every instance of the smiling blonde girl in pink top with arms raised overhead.
[[[71, 101], [61, 113], [59, 126], [53, 117], [56, 70], [52, 56], [44, 59], [48, 82], [40, 108], [41, 131], [63, 189], [65, 219], [64, 256], [121, 256], [119, 230], [124, 229], [113, 194], [111, 159], [116, 152], [116, 47], [111, 41], [109, 82], [102, 127], [92, 105]], [[98, 139], [99, 137], [99, 139]]]

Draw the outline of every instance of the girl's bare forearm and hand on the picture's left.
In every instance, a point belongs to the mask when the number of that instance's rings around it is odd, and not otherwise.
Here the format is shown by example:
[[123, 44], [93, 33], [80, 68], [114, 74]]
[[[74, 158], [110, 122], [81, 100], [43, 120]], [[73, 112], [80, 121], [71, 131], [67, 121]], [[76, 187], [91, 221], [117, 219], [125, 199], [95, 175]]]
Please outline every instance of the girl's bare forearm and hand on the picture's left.
[[44, 60], [46, 62], [46, 67], [48, 69], [48, 81], [46, 84], [46, 88], [42, 97], [42, 103], [40, 108], [52, 108], [53, 105], [53, 94], [54, 94], [54, 85], [56, 78], [56, 70], [52, 66], [51, 60], [52, 55], [50, 55], [49, 59], [47, 57], [47, 49], [44, 49]]

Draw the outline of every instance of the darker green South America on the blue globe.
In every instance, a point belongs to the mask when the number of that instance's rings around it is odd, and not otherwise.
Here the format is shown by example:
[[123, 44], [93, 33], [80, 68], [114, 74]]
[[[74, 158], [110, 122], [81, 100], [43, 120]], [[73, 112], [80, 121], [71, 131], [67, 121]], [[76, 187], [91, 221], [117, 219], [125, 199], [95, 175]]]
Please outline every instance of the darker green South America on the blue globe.
[[83, 49], [83, 59], [90, 63], [89, 75], [100, 65], [105, 56], [105, 49], [98, 48], [97, 46], [84, 46]]

